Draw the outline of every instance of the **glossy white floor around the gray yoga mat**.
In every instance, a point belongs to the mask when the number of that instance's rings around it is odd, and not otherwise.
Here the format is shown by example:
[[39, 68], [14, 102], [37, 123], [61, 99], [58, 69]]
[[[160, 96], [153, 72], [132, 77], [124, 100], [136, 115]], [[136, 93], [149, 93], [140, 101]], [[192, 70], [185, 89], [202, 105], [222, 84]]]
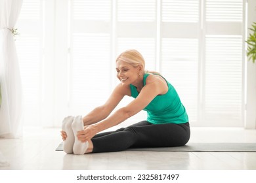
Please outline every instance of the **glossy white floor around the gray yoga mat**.
[[[190, 142], [256, 142], [256, 130], [192, 127]], [[256, 170], [256, 152], [110, 152], [76, 156], [56, 152], [59, 128], [25, 128], [22, 139], [0, 139], [8, 161], [0, 169]], [[1, 158], [1, 157], [0, 157]]]

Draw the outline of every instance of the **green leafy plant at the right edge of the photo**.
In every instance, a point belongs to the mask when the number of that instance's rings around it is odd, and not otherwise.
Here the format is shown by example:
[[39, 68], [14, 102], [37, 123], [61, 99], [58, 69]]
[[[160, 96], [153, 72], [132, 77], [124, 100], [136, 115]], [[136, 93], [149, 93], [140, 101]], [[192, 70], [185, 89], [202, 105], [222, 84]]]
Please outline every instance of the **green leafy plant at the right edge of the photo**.
[[247, 37], [247, 58], [255, 63], [256, 60], [256, 22], [249, 28], [252, 32]]

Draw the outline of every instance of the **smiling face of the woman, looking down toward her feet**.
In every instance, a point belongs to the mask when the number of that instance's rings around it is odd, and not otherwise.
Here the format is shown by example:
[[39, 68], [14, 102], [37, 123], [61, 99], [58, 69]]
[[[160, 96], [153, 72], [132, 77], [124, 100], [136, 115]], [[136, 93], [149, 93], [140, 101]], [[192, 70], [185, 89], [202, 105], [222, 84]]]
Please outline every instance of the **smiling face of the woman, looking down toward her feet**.
[[141, 82], [141, 78], [143, 78], [143, 76], [141, 77], [141, 71], [141, 65], [134, 67], [130, 63], [122, 60], [116, 62], [117, 78], [121, 81], [121, 84], [133, 84], [134, 86], [138, 86]]

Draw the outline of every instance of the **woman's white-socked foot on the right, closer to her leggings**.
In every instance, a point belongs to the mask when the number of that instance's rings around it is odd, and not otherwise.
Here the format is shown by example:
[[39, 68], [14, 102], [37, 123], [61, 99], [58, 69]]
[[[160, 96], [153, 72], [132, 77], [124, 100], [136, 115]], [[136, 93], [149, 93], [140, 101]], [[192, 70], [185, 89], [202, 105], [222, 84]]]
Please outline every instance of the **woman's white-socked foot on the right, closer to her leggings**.
[[76, 116], [72, 123], [73, 133], [75, 134], [75, 142], [73, 146], [74, 154], [85, 154], [88, 148], [88, 142], [81, 142], [77, 139], [77, 131], [83, 130], [82, 116]]

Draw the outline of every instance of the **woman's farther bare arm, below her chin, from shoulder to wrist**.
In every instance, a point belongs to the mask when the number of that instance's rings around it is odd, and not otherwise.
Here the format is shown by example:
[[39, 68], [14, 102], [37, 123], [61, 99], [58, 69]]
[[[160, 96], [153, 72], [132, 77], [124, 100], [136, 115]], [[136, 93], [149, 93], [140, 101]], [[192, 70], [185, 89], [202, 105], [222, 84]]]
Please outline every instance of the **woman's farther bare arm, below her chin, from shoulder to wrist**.
[[110, 115], [125, 95], [129, 95], [129, 88], [122, 86], [121, 84], [117, 85], [104, 105], [96, 107], [83, 117], [83, 124], [91, 125], [104, 120]]

